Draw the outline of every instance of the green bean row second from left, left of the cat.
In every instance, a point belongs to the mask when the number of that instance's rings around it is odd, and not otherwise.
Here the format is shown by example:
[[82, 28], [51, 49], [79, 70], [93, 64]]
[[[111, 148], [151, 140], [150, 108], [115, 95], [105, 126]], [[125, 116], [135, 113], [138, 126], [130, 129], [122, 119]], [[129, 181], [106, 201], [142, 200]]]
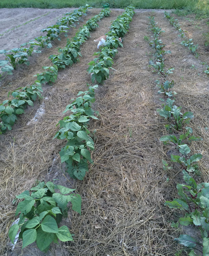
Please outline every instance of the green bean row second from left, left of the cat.
[[[11, 130], [17, 115], [23, 114], [24, 109], [27, 105], [33, 106], [37, 96], [41, 98], [42, 88], [41, 85], [48, 82], [52, 84], [57, 79], [58, 68], [65, 68], [65, 66], [71, 66], [73, 63], [79, 61], [80, 46], [86, 42], [90, 37], [90, 31], [93, 31], [98, 27], [98, 22], [105, 16], [109, 16], [109, 9], [102, 10], [99, 15], [95, 15], [93, 18], [88, 20], [85, 25], [79, 28], [76, 32], [76, 36], [71, 40], [67, 39], [67, 45], [63, 49], [59, 48], [61, 54], [51, 55], [49, 58], [52, 59], [52, 67], [43, 67], [46, 70], [43, 73], [37, 74], [37, 80], [32, 85], [28, 85], [24, 88], [18, 88], [14, 92], [9, 92], [8, 97], [11, 95], [12, 100], [5, 100], [0, 104], [0, 132], [5, 133], [6, 129]], [[56, 64], [56, 65], [55, 65]], [[21, 90], [21, 91], [20, 91]]]

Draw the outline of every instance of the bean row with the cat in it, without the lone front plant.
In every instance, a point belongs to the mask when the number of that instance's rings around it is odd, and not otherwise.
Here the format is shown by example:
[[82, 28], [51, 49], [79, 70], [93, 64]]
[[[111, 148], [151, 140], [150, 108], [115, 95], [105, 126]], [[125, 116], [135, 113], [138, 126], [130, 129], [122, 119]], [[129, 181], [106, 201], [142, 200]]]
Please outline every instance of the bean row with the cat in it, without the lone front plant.
[[[128, 31], [128, 24], [132, 20], [134, 7], [131, 5], [125, 9], [122, 15], [113, 21], [108, 37], [99, 58], [90, 62], [88, 72], [93, 72], [92, 82], [102, 82], [109, 76], [109, 69], [112, 66], [113, 59], [117, 53], [118, 45], [122, 44], [118, 37], [123, 37]], [[96, 71], [97, 70], [97, 71]], [[96, 75], [98, 74], [98, 75]], [[100, 77], [99, 77], [100, 76]], [[90, 118], [98, 119], [94, 114], [99, 115], [97, 111], [92, 109], [92, 103], [95, 101], [94, 90], [98, 85], [89, 86], [88, 91], [79, 92], [76, 99], [72, 99], [71, 103], [66, 107], [63, 113], [70, 111], [70, 115], [60, 120], [60, 130], [54, 138], [66, 139], [67, 144], [60, 151], [61, 162], [66, 163], [67, 173], [70, 177], [83, 180], [86, 172], [89, 171], [88, 162], [93, 164], [90, 151], [94, 150], [93, 134], [88, 130]], [[88, 161], [88, 162], [87, 162]]]

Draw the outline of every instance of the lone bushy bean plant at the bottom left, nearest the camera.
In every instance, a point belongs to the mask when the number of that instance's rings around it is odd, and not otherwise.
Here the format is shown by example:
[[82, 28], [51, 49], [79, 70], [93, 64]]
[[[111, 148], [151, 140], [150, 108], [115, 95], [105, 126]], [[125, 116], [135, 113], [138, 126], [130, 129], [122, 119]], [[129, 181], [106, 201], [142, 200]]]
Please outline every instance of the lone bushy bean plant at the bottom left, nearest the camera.
[[[58, 228], [62, 217], [67, 217], [68, 202], [72, 209], [81, 214], [81, 197], [71, 193], [75, 189], [67, 188], [52, 182], [39, 182], [36, 187], [24, 191], [16, 199], [19, 202], [15, 216], [20, 213], [18, 224], [11, 226], [9, 237], [14, 243], [15, 236], [20, 229], [18, 239], [22, 239], [22, 248], [36, 242], [40, 251], [47, 252], [52, 242], [73, 241], [67, 226]], [[55, 191], [56, 190], [56, 191]], [[57, 193], [57, 192], [60, 193]]]

